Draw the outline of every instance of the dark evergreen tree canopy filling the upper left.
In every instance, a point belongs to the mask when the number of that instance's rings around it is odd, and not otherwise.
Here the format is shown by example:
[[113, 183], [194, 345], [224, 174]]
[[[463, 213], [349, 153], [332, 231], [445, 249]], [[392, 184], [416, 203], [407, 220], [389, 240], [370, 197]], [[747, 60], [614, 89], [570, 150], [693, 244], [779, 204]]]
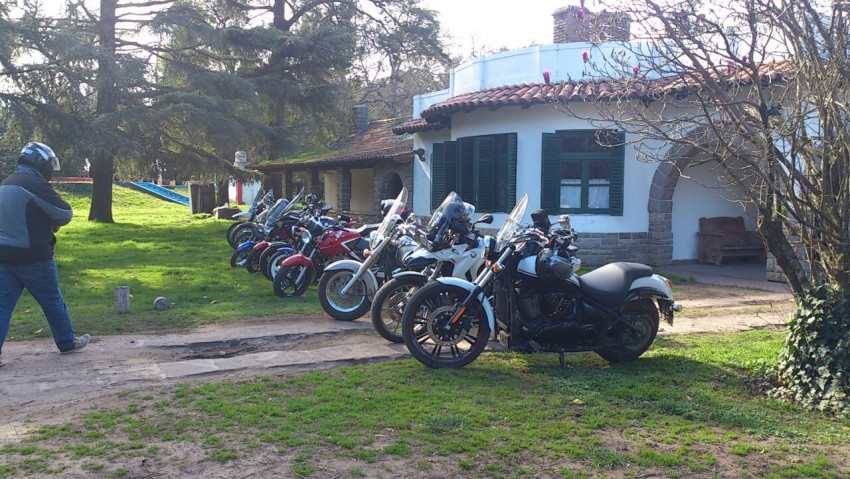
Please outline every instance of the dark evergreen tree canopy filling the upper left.
[[418, 1], [4, 0], [2, 145], [38, 138], [65, 171], [90, 165], [89, 219], [111, 222], [116, 173], [244, 176], [236, 150], [327, 144], [371, 85], [445, 62], [442, 48]]

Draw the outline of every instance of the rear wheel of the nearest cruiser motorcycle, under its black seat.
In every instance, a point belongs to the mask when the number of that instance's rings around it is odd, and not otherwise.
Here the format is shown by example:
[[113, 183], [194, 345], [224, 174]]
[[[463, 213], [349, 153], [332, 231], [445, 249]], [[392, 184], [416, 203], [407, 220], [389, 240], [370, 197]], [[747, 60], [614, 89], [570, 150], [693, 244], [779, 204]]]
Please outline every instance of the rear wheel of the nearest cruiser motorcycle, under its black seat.
[[620, 363], [634, 361], [645, 353], [655, 335], [658, 334], [658, 309], [651, 299], [631, 301], [623, 311], [623, 317], [631, 325], [615, 324], [609, 332], [609, 340], [623, 344], [610, 349], [601, 349], [596, 354], [606, 361]]

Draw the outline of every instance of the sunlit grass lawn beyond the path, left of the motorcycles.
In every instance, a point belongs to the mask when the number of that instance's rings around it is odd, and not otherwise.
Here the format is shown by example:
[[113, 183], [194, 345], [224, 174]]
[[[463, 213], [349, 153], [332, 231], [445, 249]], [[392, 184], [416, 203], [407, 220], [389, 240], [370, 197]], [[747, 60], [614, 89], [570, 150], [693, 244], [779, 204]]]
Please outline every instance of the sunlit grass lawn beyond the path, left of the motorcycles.
[[[74, 208], [74, 219], [56, 235], [56, 262], [65, 302], [80, 333], [182, 329], [322, 311], [315, 287], [301, 298], [281, 299], [261, 274], [231, 268], [233, 250], [224, 236], [229, 220], [193, 217], [185, 206], [115, 186], [115, 223], [95, 223], [87, 220], [89, 194], [61, 193]], [[117, 286], [130, 287], [130, 313], [115, 313]], [[168, 298], [171, 309], [155, 311], [158, 296]], [[41, 308], [24, 292], [8, 339], [49, 335]]]

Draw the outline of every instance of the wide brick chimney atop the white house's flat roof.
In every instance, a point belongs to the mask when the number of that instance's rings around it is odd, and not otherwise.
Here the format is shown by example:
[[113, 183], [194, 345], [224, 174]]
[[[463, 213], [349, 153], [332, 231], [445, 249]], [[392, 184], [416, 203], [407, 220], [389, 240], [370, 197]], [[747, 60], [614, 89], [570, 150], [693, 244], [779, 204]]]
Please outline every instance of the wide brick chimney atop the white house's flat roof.
[[582, 7], [564, 7], [555, 10], [555, 26], [552, 43], [623, 41], [631, 39], [632, 19], [625, 13], [591, 13], [584, 9], [584, 18], [579, 19]]

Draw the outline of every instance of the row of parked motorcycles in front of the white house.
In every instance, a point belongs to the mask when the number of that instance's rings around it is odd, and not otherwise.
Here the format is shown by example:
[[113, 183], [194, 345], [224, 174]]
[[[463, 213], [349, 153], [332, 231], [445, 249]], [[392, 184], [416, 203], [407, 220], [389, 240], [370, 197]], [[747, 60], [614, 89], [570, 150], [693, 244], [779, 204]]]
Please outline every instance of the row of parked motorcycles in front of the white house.
[[578, 238], [568, 215], [542, 210], [523, 225], [527, 195], [495, 236], [475, 207], [450, 193], [423, 225], [408, 192], [381, 202], [379, 224], [356, 227], [302, 189], [291, 199], [258, 195], [227, 231], [230, 264], [261, 272], [281, 297], [318, 280], [322, 308], [337, 320], [371, 313], [375, 330], [404, 342], [423, 364], [462, 367], [491, 338], [511, 350], [595, 351], [611, 362], [641, 356], [659, 319], [680, 309], [672, 283], [651, 267], [610, 263], [578, 274]]

